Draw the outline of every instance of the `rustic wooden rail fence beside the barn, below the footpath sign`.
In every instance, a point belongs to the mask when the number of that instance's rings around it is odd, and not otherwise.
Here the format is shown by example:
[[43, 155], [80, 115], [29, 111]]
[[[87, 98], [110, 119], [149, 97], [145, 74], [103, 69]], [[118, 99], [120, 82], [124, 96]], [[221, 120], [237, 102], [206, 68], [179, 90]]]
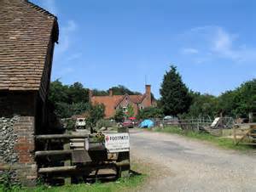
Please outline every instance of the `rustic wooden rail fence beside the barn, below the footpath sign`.
[[[71, 184], [72, 178], [90, 178], [91, 172], [97, 173], [100, 169], [111, 168], [116, 174], [112, 177], [122, 176], [130, 170], [129, 152], [108, 154], [104, 144], [95, 139], [96, 134], [51, 134], [38, 135], [36, 140], [41, 150], [35, 152], [38, 162], [38, 174], [52, 182], [55, 177], [64, 179], [65, 184]], [[74, 140], [84, 141], [82, 149], [72, 149]], [[85, 143], [90, 144], [85, 150]], [[62, 147], [60, 147], [62, 145]], [[57, 149], [56, 149], [57, 148]]]

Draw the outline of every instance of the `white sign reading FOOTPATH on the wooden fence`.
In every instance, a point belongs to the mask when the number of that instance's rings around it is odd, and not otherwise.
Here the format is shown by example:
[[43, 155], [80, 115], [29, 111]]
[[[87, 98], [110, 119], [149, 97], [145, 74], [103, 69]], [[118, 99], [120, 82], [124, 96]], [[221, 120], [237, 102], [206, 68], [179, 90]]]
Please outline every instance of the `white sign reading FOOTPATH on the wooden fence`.
[[130, 150], [129, 133], [105, 134], [105, 147], [110, 153], [129, 151]]

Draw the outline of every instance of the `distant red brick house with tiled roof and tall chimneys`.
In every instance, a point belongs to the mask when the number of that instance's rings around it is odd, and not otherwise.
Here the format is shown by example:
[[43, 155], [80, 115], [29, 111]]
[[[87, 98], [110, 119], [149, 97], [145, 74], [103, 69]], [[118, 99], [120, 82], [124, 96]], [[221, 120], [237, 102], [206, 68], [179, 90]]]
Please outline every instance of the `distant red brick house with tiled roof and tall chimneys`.
[[113, 117], [115, 111], [119, 108], [121, 108], [124, 112], [127, 112], [128, 104], [131, 104], [133, 107], [135, 116], [137, 116], [139, 110], [154, 106], [156, 104], [151, 95], [150, 85], [146, 85], [144, 94], [138, 95], [113, 95], [113, 91], [110, 89], [108, 96], [93, 96], [92, 92], [90, 91], [90, 102], [91, 104], [105, 105], [105, 118]]

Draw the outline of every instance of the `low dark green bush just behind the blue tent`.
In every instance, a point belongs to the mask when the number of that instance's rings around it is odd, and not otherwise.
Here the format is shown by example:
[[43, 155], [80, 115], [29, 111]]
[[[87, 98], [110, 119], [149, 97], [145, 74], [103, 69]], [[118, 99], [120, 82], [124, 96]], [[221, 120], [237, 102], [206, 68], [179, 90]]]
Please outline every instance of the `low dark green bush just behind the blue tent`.
[[148, 119], [148, 118], [162, 118], [164, 117], [163, 111], [157, 107], [147, 107], [143, 110], [139, 110], [137, 119]]

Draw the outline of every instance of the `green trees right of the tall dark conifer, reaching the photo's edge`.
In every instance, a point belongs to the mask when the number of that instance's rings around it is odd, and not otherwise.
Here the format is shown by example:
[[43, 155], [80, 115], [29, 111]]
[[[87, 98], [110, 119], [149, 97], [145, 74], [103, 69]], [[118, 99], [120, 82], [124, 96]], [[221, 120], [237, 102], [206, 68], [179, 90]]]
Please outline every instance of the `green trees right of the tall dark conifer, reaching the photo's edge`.
[[241, 84], [233, 91], [226, 91], [216, 97], [210, 94], [193, 93], [192, 104], [187, 116], [223, 116], [247, 117], [256, 111], [256, 79]]

